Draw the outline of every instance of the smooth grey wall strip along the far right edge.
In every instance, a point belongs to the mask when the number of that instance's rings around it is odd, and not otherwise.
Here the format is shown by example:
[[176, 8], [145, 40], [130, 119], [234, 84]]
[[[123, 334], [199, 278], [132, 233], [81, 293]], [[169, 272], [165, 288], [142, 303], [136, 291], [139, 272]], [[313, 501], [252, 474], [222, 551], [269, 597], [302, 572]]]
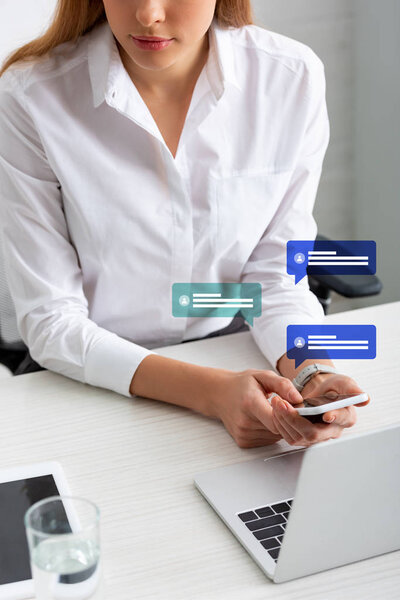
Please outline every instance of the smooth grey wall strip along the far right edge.
[[400, 300], [400, 0], [356, 0], [355, 233], [378, 248], [379, 302]]

